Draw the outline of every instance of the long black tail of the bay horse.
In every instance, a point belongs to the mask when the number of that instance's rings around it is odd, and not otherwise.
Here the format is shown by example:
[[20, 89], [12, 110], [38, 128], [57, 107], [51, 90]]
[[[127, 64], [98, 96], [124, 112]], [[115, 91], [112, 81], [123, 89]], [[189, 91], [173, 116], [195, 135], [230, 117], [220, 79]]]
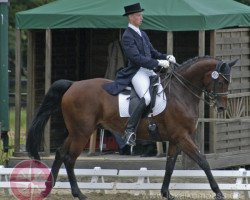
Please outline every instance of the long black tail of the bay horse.
[[44, 127], [51, 114], [61, 110], [62, 97], [72, 83], [69, 80], [58, 80], [51, 85], [45, 95], [27, 133], [26, 150], [34, 159], [40, 160], [38, 151], [44, 135]]

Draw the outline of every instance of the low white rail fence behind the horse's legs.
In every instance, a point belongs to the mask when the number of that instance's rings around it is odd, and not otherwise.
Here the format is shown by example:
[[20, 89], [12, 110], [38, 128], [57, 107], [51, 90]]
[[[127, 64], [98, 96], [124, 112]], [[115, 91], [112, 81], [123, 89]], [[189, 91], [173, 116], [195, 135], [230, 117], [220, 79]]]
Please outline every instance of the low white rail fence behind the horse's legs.
[[[1, 168], [0, 167], [0, 189], [11, 188], [9, 181], [10, 174], [13, 173], [13, 168]], [[25, 173], [25, 172], [22, 172]], [[29, 170], [27, 170], [27, 174]], [[240, 191], [244, 191], [244, 199], [250, 199], [250, 184], [248, 184], [248, 178], [250, 177], [250, 171], [245, 169], [236, 170], [212, 170], [215, 178], [231, 178], [233, 183], [219, 183], [221, 190], [228, 190], [233, 192], [233, 199], [240, 198]], [[162, 182], [151, 182], [153, 178], [163, 178], [164, 170], [147, 170], [141, 168], [140, 170], [117, 170], [117, 169], [101, 169], [95, 167], [94, 169], [75, 169], [76, 176], [89, 177], [90, 180], [78, 181], [79, 188], [90, 190], [160, 190]], [[23, 174], [24, 175], [24, 174]], [[60, 169], [60, 176], [67, 176], [65, 169]], [[113, 177], [112, 182], [105, 182], [105, 178]], [[206, 175], [202, 170], [175, 170], [172, 177], [181, 178], [203, 178], [203, 182], [185, 182], [185, 183], [170, 183], [170, 190], [211, 190]], [[121, 178], [135, 178], [135, 182], [119, 182]], [[162, 180], [162, 179], [160, 179]], [[27, 182], [28, 184], [28, 182]], [[22, 182], [22, 185], [25, 184]], [[54, 188], [69, 189], [69, 182], [57, 181]]]

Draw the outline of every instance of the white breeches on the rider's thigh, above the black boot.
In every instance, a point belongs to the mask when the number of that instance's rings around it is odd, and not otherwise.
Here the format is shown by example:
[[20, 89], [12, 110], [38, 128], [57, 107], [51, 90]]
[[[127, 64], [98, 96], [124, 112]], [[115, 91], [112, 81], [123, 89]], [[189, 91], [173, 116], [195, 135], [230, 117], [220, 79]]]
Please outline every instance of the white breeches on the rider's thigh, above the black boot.
[[148, 106], [151, 101], [149, 93], [150, 76], [156, 75], [153, 70], [141, 67], [132, 78], [132, 85], [140, 98], [145, 98], [145, 103]]

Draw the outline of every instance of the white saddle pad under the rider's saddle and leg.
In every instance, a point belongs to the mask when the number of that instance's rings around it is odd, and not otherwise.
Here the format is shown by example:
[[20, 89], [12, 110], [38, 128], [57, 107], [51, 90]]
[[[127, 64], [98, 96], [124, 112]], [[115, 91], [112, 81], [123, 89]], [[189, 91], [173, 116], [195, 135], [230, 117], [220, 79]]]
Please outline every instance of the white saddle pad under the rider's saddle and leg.
[[[130, 117], [129, 115], [129, 95], [119, 94], [119, 113], [120, 117]], [[163, 91], [162, 85], [158, 86], [158, 94], [156, 96], [155, 106], [153, 108], [153, 116], [160, 114], [167, 105], [167, 98]], [[148, 115], [151, 117], [151, 113]]]

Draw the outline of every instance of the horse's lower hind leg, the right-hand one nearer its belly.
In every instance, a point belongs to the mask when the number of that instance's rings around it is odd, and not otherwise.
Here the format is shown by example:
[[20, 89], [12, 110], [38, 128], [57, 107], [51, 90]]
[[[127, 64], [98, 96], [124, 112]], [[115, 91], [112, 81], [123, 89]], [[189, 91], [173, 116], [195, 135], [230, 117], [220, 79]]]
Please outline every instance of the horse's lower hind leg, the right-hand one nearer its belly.
[[62, 147], [62, 150], [65, 151], [65, 154], [63, 155], [63, 162], [68, 174], [68, 179], [71, 186], [71, 192], [74, 197], [78, 197], [79, 200], [85, 200], [87, 197], [82, 194], [80, 191], [75, 172], [74, 172], [74, 166], [77, 157], [81, 154], [85, 144], [84, 141], [87, 141], [87, 138], [82, 137], [68, 137]]

